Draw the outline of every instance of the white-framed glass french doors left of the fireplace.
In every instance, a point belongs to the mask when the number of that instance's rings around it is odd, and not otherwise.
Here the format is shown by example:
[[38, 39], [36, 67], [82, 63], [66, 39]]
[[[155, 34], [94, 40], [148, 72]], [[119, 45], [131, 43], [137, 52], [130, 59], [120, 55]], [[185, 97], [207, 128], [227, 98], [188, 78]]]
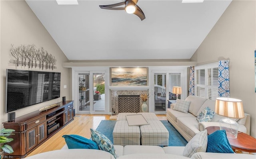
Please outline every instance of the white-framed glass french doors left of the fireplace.
[[[102, 71], [103, 70], [103, 71]], [[77, 114], [108, 114], [109, 91], [107, 70], [100, 68], [72, 69], [72, 98]]]

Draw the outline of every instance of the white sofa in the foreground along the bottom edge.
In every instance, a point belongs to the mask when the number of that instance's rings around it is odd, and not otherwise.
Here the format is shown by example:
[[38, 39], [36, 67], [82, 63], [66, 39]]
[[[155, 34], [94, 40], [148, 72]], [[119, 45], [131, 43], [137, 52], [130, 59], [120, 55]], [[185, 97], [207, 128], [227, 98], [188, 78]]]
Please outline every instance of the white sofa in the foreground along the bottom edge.
[[[189, 159], [182, 155], [184, 146], [114, 145], [118, 159]], [[256, 155], [238, 153], [194, 153], [191, 159], [255, 159]], [[39, 153], [26, 159], [114, 159], [110, 153], [96, 149], [68, 149]]]

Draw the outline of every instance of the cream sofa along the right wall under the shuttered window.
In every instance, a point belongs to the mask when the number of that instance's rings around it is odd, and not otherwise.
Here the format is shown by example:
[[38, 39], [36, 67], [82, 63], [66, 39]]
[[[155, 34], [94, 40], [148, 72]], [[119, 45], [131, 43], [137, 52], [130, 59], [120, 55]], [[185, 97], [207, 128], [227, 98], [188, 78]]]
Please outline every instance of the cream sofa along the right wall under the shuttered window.
[[[190, 101], [187, 114], [173, 110], [175, 104], [171, 104], [170, 108], [166, 111], [166, 117], [187, 141], [208, 126], [219, 126], [218, 121], [224, 118], [215, 114], [210, 122], [198, 122], [196, 117], [204, 108], [209, 107], [211, 110], [215, 110], [215, 100], [208, 100], [198, 96], [188, 96], [186, 100]], [[239, 124], [238, 131], [250, 134], [250, 115], [245, 115], [245, 118], [237, 121]]]

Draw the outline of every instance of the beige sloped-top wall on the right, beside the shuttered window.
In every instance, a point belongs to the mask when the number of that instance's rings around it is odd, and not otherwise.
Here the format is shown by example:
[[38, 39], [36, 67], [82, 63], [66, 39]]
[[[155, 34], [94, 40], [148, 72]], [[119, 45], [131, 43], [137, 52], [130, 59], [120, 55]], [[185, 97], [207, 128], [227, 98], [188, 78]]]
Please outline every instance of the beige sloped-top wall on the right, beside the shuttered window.
[[233, 0], [191, 58], [198, 64], [230, 59], [230, 97], [243, 101], [256, 137], [254, 50], [256, 1]]

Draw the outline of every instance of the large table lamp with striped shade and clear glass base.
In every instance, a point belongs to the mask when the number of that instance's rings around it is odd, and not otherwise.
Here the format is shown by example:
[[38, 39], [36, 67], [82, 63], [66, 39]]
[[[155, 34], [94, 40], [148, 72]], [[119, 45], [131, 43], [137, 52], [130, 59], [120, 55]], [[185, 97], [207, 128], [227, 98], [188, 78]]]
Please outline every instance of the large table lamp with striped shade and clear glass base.
[[238, 133], [238, 123], [235, 119], [244, 118], [242, 100], [224, 97], [216, 98], [215, 113], [228, 117], [219, 120], [220, 130], [226, 130], [227, 137], [236, 138]]

